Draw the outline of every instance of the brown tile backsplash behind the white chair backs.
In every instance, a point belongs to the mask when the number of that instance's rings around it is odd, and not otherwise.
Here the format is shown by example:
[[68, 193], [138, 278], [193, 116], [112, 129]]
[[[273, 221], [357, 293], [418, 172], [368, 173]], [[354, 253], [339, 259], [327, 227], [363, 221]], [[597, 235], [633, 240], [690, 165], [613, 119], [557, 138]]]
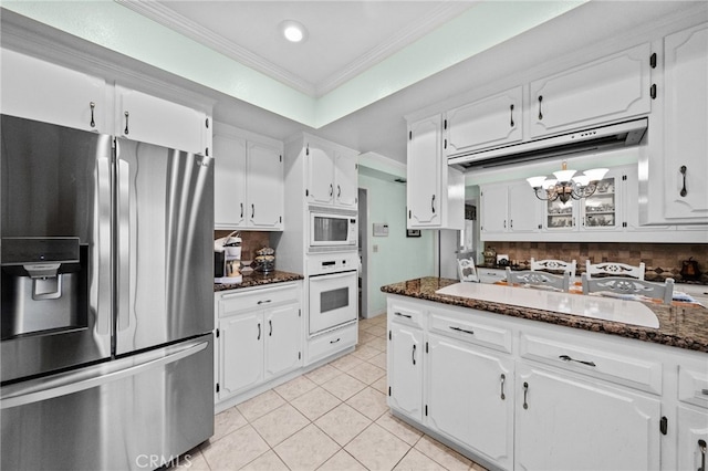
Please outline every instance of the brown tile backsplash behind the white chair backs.
[[[646, 265], [646, 280], [674, 278], [680, 281], [683, 262], [693, 258], [704, 273], [701, 282], [708, 283], [708, 244], [706, 243], [610, 243], [610, 242], [486, 242], [497, 253], [509, 255], [520, 266], [529, 260], [555, 259], [577, 262], [577, 272], [585, 270], [585, 260], [592, 263], [620, 262]], [[483, 250], [482, 249], [482, 250]], [[480, 260], [480, 263], [483, 259]]]

